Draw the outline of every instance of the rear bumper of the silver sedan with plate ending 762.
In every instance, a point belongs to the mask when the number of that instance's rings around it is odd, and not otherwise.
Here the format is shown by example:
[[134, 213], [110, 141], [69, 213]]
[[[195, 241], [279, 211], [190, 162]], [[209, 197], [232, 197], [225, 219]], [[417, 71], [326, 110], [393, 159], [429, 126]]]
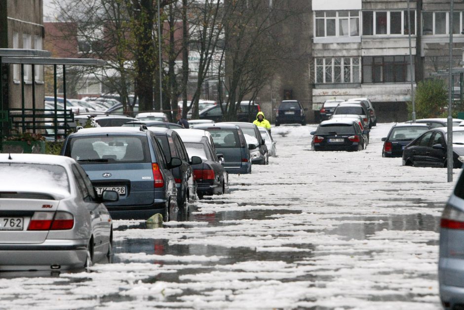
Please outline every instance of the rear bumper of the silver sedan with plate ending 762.
[[[87, 240], [45, 240], [39, 244], [0, 244], [0, 271], [66, 270], [82, 268]], [[60, 266], [52, 269], [51, 266]]]

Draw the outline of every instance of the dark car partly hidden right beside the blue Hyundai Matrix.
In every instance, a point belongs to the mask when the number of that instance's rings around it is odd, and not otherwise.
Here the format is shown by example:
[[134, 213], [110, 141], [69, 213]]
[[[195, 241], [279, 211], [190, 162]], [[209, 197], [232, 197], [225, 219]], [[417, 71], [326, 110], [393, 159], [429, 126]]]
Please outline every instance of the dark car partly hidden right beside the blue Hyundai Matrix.
[[192, 159], [189, 158], [184, 143], [176, 131], [160, 127], [148, 127], [148, 130], [155, 133], [167, 161], [170, 161], [172, 157], [178, 157], [182, 160], [182, 165], [173, 167], [171, 173], [176, 181], [177, 205], [182, 208], [186, 207], [189, 199], [195, 199], [196, 193], [191, 164], [201, 163], [201, 159], [195, 156]]

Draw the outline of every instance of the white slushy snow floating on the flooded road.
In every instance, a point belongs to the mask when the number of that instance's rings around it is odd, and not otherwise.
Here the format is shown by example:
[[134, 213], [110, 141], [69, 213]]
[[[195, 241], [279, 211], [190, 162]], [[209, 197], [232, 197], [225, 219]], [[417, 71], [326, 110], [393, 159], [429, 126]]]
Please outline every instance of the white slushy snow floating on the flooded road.
[[311, 151], [314, 126], [272, 128], [278, 157], [196, 202], [195, 222], [115, 221], [117, 263], [1, 278], [0, 309], [440, 309], [439, 216], [453, 184], [445, 169], [382, 158], [391, 125], [355, 153]]

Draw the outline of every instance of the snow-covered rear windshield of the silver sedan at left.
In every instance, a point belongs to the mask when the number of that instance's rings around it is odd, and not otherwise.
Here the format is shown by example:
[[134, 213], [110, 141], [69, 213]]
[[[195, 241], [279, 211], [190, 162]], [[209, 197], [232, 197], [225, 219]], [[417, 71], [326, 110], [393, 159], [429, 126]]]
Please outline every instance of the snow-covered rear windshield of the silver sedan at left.
[[56, 188], [70, 193], [66, 169], [59, 165], [37, 163], [0, 163], [0, 188], [18, 191]]

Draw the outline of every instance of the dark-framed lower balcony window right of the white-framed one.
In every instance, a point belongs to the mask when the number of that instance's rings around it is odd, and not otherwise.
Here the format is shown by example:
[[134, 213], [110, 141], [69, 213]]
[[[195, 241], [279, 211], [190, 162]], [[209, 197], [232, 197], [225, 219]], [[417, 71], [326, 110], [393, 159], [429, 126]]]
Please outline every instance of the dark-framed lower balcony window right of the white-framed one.
[[363, 82], [392, 83], [409, 81], [410, 66], [408, 59], [407, 56], [363, 57]]

